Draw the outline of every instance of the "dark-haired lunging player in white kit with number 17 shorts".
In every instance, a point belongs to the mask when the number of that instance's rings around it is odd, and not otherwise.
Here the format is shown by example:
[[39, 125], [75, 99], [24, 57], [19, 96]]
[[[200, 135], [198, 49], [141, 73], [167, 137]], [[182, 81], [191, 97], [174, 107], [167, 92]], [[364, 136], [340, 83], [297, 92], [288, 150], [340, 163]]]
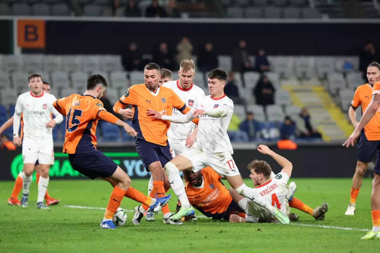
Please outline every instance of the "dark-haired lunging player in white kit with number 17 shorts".
[[196, 172], [210, 166], [219, 175], [225, 177], [237, 193], [268, 210], [281, 223], [289, 224], [289, 218], [286, 214], [271, 206], [265, 198], [260, 196], [260, 191], [249, 188], [244, 184], [239, 170], [236, 168], [231, 156], [233, 149], [227, 134], [234, 105], [223, 91], [226, 79], [227, 74], [225, 71], [220, 69], [212, 70], [208, 74], [210, 96], [204, 96], [196, 101], [187, 114], [166, 116], [157, 111], [148, 111], [148, 115], [152, 118], [174, 123], [187, 123], [199, 117], [196, 143], [191, 149], [174, 157], [173, 160], [165, 165], [171, 188], [182, 205], [179, 212], [170, 217], [170, 219], [178, 220], [194, 214], [194, 209], [187, 199], [179, 172], [186, 170]]

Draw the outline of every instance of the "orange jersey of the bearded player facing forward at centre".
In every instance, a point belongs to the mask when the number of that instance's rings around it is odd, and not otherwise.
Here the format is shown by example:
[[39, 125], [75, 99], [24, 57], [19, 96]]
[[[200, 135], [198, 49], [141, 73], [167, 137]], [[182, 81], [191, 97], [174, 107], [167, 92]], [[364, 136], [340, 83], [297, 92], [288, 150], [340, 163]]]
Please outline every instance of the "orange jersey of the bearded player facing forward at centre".
[[130, 87], [116, 102], [114, 111], [119, 113], [119, 109], [124, 108], [127, 104], [132, 105], [132, 125], [138, 133], [136, 138], [161, 146], [167, 145], [166, 133], [170, 122], [150, 118], [147, 115], [147, 109], [157, 111], [161, 115], [172, 115], [173, 108], [183, 114], [190, 111], [190, 108], [172, 89], [161, 86], [154, 93], [147, 89], [145, 84], [136, 84]]

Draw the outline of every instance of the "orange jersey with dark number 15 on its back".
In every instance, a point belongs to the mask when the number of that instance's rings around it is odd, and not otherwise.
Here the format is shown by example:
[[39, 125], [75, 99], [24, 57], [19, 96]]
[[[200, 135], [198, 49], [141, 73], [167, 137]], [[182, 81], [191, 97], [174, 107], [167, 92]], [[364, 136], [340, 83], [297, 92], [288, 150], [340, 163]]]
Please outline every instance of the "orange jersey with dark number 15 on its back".
[[55, 101], [53, 106], [66, 115], [63, 153], [83, 154], [96, 150], [96, 126], [103, 103], [90, 95], [72, 94]]

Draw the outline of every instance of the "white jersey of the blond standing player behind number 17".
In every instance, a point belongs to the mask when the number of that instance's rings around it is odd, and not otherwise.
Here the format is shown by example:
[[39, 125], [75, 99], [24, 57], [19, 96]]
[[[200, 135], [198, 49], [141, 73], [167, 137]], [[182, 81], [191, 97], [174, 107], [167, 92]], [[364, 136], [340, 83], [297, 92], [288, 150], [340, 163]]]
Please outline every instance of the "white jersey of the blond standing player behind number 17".
[[[162, 86], [172, 89], [179, 98], [185, 102], [186, 106], [190, 109], [195, 104], [199, 98], [204, 97], [204, 91], [198, 86], [191, 84], [190, 88], [187, 90], [182, 89], [179, 84], [179, 80], [177, 81], [169, 81], [163, 84]], [[176, 108], [173, 108], [173, 115], [182, 114]], [[170, 123], [170, 127], [168, 130], [168, 141], [170, 143], [183, 143], [186, 141], [187, 136], [193, 133], [195, 124], [193, 122], [188, 122], [185, 124], [179, 123]]]

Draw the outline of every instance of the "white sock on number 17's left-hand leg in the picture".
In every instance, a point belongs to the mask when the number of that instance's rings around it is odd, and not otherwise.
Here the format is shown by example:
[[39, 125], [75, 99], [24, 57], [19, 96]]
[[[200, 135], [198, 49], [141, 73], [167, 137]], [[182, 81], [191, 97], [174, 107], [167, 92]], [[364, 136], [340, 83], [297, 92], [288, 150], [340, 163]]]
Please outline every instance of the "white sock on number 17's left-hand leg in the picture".
[[190, 208], [191, 205], [185, 193], [184, 182], [182, 181], [181, 176], [179, 176], [179, 169], [177, 169], [173, 163], [168, 162], [165, 165], [165, 171], [168, 176], [170, 186], [173, 189], [174, 194], [176, 194], [181, 202], [181, 206], [184, 208]]

